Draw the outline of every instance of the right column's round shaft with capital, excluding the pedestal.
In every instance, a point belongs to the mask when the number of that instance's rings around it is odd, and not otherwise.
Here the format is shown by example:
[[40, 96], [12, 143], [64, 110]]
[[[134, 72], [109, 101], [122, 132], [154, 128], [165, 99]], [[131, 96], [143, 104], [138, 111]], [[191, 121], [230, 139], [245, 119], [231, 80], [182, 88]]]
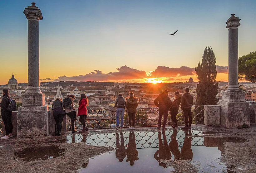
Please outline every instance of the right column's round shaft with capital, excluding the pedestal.
[[231, 14], [226, 22], [229, 29], [229, 88], [230, 91], [239, 90], [238, 86], [238, 26], [240, 20]]

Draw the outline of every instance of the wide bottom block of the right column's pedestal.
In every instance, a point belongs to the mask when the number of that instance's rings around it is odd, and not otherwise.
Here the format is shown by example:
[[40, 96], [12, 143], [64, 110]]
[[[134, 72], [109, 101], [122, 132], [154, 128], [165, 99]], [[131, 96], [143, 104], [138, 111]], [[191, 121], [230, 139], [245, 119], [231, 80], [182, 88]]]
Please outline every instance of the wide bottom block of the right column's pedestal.
[[225, 128], [250, 127], [250, 108], [247, 102], [219, 101], [220, 124]]

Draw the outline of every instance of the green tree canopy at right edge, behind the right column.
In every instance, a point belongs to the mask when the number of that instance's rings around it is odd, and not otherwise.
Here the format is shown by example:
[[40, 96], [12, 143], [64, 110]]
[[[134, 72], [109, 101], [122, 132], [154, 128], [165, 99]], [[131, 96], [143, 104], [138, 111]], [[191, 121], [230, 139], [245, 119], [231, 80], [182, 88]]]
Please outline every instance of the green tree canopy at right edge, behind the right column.
[[242, 80], [256, 82], [256, 52], [238, 59], [238, 77]]

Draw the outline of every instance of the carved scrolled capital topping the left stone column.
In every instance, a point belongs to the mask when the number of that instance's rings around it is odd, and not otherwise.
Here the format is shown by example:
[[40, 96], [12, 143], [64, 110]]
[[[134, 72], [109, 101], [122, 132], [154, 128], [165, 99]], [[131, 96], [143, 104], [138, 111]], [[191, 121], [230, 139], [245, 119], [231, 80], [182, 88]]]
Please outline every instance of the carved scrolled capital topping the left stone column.
[[27, 20], [36, 20], [36, 21], [43, 20], [41, 10], [35, 5], [36, 5], [36, 3], [32, 2], [32, 5], [28, 6], [23, 11], [23, 13], [27, 17]]

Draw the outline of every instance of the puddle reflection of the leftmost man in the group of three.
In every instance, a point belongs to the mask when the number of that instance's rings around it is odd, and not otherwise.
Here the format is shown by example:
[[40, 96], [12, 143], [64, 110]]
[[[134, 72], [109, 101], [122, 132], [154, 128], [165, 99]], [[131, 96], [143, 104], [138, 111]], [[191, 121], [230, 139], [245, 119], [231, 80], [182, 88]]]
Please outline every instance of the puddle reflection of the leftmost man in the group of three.
[[164, 143], [162, 142], [161, 132], [158, 132], [159, 148], [155, 152], [154, 158], [159, 162], [159, 166], [163, 166], [164, 168], [166, 168], [167, 167], [166, 163], [163, 163], [161, 160], [170, 160], [172, 158], [172, 155], [168, 148], [165, 132], [163, 132], [163, 138], [164, 138]]

